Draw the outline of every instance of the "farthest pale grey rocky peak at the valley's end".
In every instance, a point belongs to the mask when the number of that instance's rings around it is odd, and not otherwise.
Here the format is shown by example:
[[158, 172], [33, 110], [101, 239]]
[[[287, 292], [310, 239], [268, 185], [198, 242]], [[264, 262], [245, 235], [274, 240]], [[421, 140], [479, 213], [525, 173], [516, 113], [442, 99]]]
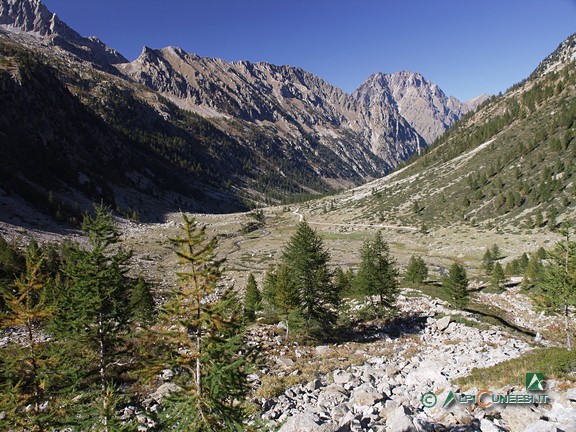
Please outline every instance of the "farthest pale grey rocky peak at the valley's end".
[[485, 97], [463, 103], [446, 96], [434, 83], [421, 74], [402, 71], [394, 74], [372, 75], [356, 90], [357, 100], [387, 101], [431, 144], [468, 111], [475, 109]]

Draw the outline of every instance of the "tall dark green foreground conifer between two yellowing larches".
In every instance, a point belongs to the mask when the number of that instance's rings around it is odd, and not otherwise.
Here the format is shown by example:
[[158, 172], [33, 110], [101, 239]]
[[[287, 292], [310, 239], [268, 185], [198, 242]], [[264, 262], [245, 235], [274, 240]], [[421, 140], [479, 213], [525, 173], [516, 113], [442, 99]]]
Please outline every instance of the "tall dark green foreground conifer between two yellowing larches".
[[[131, 252], [120, 245], [120, 234], [111, 213], [103, 206], [95, 215], [86, 214], [82, 229], [88, 236], [87, 250], [71, 247], [62, 272], [63, 287], [56, 300], [52, 322], [56, 337], [76, 356], [84, 395], [93, 394], [93, 404], [73, 414], [78, 422], [100, 423], [108, 432], [117, 428], [114, 388], [118, 384], [119, 360], [126, 356], [130, 279], [126, 276]], [[80, 407], [78, 407], [80, 409]]]

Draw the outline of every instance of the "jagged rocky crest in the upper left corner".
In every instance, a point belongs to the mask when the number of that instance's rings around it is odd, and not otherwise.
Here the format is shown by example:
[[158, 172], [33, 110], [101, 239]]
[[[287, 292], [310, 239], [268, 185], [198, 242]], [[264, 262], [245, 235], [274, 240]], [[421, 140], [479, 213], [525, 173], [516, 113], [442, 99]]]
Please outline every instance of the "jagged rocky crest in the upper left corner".
[[[40, 0], [0, 0], [0, 28], [9, 34], [41, 38], [82, 60], [106, 66], [128, 60], [96, 37], [85, 38], [62, 22]], [[21, 41], [22, 37], [19, 38]], [[26, 40], [24, 38], [24, 40]]]

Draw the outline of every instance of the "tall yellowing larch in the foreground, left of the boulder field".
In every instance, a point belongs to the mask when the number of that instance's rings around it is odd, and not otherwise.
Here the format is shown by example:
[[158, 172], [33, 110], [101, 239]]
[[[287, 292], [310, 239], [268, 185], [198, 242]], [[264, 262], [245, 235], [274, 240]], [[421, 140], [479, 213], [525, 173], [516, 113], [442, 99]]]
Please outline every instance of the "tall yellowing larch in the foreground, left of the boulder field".
[[240, 403], [249, 386], [251, 360], [241, 327], [242, 310], [232, 288], [218, 286], [223, 260], [217, 240], [205, 227], [184, 216], [178, 247], [179, 284], [160, 310], [155, 372], [169, 368], [182, 390], [163, 404], [166, 430], [226, 432], [243, 430], [246, 412]]

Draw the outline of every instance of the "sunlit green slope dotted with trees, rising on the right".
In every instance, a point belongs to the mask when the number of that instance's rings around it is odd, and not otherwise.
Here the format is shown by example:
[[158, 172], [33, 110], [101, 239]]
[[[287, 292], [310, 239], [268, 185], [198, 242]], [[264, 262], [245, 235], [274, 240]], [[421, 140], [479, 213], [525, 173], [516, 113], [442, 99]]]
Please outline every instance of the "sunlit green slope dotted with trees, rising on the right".
[[373, 219], [556, 229], [576, 213], [576, 35], [523, 82], [371, 185]]

